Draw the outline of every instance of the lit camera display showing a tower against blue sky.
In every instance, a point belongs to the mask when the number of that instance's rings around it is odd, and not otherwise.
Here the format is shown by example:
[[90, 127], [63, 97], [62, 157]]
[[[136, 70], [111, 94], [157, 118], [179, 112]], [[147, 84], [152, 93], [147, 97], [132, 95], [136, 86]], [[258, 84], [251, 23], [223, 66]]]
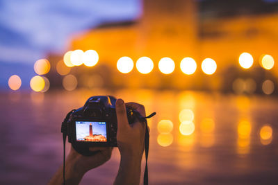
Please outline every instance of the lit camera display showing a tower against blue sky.
[[106, 142], [106, 122], [76, 121], [76, 141]]

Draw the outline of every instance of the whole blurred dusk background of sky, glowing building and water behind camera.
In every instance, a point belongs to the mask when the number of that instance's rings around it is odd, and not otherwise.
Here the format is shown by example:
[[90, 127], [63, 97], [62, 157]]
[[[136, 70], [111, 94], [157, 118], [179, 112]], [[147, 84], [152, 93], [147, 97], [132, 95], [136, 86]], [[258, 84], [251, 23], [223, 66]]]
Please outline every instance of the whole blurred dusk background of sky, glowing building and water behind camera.
[[[97, 95], [157, 113], [150, 184], [278, 184], [277, 0], [0, 10], [0, 184], [47, 184], [63, 162], [60, 123]], [[115, 148], [81, 184], [112, 184], [119, 159]]]

